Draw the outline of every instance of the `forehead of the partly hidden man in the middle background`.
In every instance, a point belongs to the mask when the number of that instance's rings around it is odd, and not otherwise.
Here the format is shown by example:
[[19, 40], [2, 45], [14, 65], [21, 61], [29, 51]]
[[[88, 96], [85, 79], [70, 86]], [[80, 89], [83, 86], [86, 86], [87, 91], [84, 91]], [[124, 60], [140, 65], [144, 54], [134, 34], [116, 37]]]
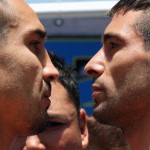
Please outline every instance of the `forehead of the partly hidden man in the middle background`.
[[77, 119], [77, 110], [68, 96], [66, 89], [59, 83], [52, 83], [51, 105], [48, 115], [51, 119], [62, 119], [72, 122]]

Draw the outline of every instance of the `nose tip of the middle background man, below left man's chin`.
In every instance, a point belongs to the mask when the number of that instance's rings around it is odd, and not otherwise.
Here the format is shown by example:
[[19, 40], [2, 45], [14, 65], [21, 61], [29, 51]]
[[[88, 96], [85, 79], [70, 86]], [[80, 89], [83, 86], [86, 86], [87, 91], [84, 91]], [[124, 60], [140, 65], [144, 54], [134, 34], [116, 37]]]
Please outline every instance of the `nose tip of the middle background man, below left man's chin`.
[[46, 147], [40, 142], [39, 137], [34, 135], [27, 137], [24, 150], [46, 150]]

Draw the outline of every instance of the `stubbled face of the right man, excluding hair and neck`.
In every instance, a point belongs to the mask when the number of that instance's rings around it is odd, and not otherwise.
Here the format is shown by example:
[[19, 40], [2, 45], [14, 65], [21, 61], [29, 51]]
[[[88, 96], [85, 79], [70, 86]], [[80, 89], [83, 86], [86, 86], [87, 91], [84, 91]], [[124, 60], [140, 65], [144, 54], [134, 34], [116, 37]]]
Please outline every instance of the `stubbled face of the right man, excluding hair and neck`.
[[94, 78], [94, 117], [125, 127], [141, 119], [150, 104], [150, 52], [134, 24], [141, 11], [116, 14], [103, 36], [103, 47], [85, 71]]

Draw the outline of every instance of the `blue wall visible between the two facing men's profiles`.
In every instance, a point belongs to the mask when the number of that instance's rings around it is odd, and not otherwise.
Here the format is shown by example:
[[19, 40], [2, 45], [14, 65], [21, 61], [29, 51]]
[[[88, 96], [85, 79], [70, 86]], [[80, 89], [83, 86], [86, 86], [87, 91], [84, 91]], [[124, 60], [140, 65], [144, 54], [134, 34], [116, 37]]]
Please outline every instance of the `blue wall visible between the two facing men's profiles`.
[[64, 58], [66, 63], [76, 68], [81, 107], [84, 107], [89, 115], [92, 114], [94, 104], [91, 98], [92, 79], [85, 75], [83, 68], [91, 56], [100, 49], [100, 39], [50, 40], [46, 42], [45, 47], [47, 50], [54, 51], [58, 56]]

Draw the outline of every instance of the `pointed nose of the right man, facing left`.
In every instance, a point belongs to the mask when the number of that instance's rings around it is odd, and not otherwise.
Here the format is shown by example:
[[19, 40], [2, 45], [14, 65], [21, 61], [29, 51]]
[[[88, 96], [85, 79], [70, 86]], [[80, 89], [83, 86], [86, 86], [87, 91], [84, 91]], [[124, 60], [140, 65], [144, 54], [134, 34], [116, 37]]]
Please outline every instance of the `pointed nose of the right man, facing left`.
[[96, 78], [104, 72], [104, 52], [99, 50], [86, 64], [84, 71], [90, 77]]

